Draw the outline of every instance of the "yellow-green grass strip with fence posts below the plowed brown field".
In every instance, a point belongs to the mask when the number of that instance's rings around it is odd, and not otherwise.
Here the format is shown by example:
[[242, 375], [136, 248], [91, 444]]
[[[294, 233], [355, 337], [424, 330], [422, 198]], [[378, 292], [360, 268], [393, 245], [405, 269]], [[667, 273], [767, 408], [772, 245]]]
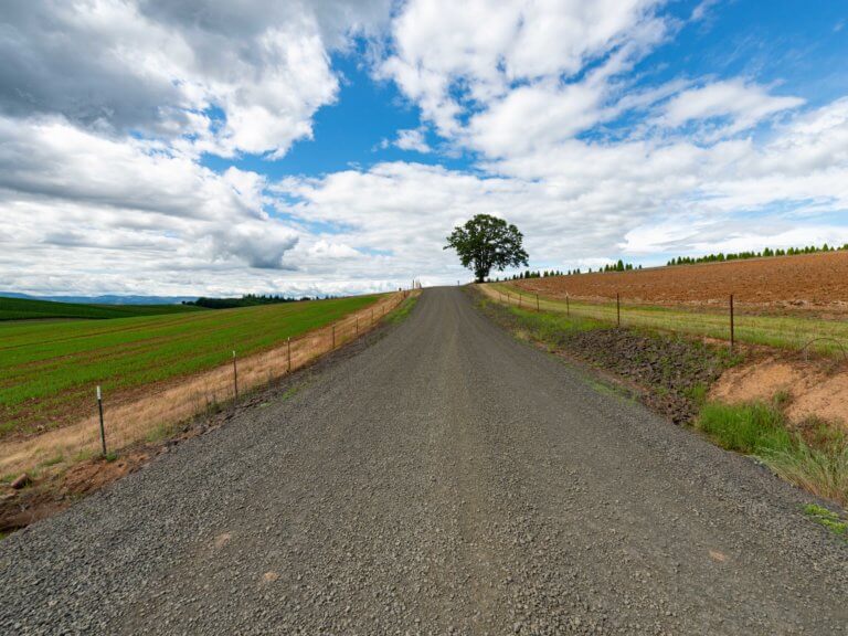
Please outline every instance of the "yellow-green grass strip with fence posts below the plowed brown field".
[[848, 358], [848, 320], [767, 314], [740, 306], [733, 295], [699, 306], [656, 306], [621, 295], [608, 300], [547, 298], [506, 285], [485, 285], [494, 300], [527, 310], [552, 311], [621, 327], [645, 327], [716, 340], [763, 344]]

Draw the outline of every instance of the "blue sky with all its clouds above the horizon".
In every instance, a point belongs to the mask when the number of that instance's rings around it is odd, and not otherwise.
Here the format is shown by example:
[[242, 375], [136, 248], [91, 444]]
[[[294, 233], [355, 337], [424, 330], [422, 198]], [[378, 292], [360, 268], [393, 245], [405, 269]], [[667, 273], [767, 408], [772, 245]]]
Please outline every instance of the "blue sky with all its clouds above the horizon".
[[359, 294], [848, 243], [842, 0], [6, 0], [0, 290]]

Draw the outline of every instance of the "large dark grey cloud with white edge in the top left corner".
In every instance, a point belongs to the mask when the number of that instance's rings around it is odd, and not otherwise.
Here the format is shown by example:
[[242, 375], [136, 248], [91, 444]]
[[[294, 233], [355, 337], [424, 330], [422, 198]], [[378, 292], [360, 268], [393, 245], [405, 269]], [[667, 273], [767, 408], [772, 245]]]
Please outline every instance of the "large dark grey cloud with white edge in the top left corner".
[[282, 156], [336, 99], [332, 49], [375, 29], [385, 10], [384, 0], [12, 0], [0, 109]]

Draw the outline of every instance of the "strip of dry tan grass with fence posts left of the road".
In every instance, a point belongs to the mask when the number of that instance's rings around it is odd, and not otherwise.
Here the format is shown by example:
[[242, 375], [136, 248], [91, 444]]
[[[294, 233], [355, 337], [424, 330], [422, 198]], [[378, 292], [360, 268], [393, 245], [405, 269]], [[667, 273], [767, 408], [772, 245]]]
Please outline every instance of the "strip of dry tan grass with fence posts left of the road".
[[232, 363], [174, 379], [141, 396], [106, 395], [99, 386], [96, 393], [92, 388], [89, 417], [36, 437], [2, 444], [0, 474], [28, 470], [59, 457], [73, 460], [106, 454], [165, 436], [176, 424], [234, 404], [251, 390], [278, 381], [370, 331], [409, 295], [410, 292], [391, 294], [331, 325], [289, 338], [261, 353], [240, 358], [236, 349]]

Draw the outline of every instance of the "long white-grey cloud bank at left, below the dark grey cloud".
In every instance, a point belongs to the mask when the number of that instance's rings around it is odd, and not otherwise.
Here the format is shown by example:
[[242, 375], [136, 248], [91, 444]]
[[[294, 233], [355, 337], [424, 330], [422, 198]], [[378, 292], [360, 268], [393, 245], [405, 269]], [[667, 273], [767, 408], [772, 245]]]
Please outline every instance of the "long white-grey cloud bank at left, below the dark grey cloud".
[[156, 144], [103, 138], [55, 117], [0, 118], [0, 221], [30, 246], [283, 267], [297, 243], [265, 212], [265, 178], [254, 172], [218, 174]]

